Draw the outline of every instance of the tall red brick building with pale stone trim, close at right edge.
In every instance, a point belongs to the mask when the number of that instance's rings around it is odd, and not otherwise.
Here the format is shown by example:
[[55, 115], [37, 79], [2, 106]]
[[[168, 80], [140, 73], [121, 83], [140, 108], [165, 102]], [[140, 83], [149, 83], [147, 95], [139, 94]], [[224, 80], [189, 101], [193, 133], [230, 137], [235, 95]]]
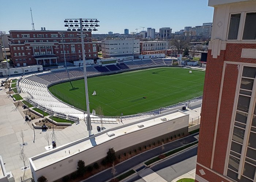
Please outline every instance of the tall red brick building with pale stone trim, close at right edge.
[[256, 1], [209, 0], [209, 42], [196, 164], [199, 182], [256, 181]]

